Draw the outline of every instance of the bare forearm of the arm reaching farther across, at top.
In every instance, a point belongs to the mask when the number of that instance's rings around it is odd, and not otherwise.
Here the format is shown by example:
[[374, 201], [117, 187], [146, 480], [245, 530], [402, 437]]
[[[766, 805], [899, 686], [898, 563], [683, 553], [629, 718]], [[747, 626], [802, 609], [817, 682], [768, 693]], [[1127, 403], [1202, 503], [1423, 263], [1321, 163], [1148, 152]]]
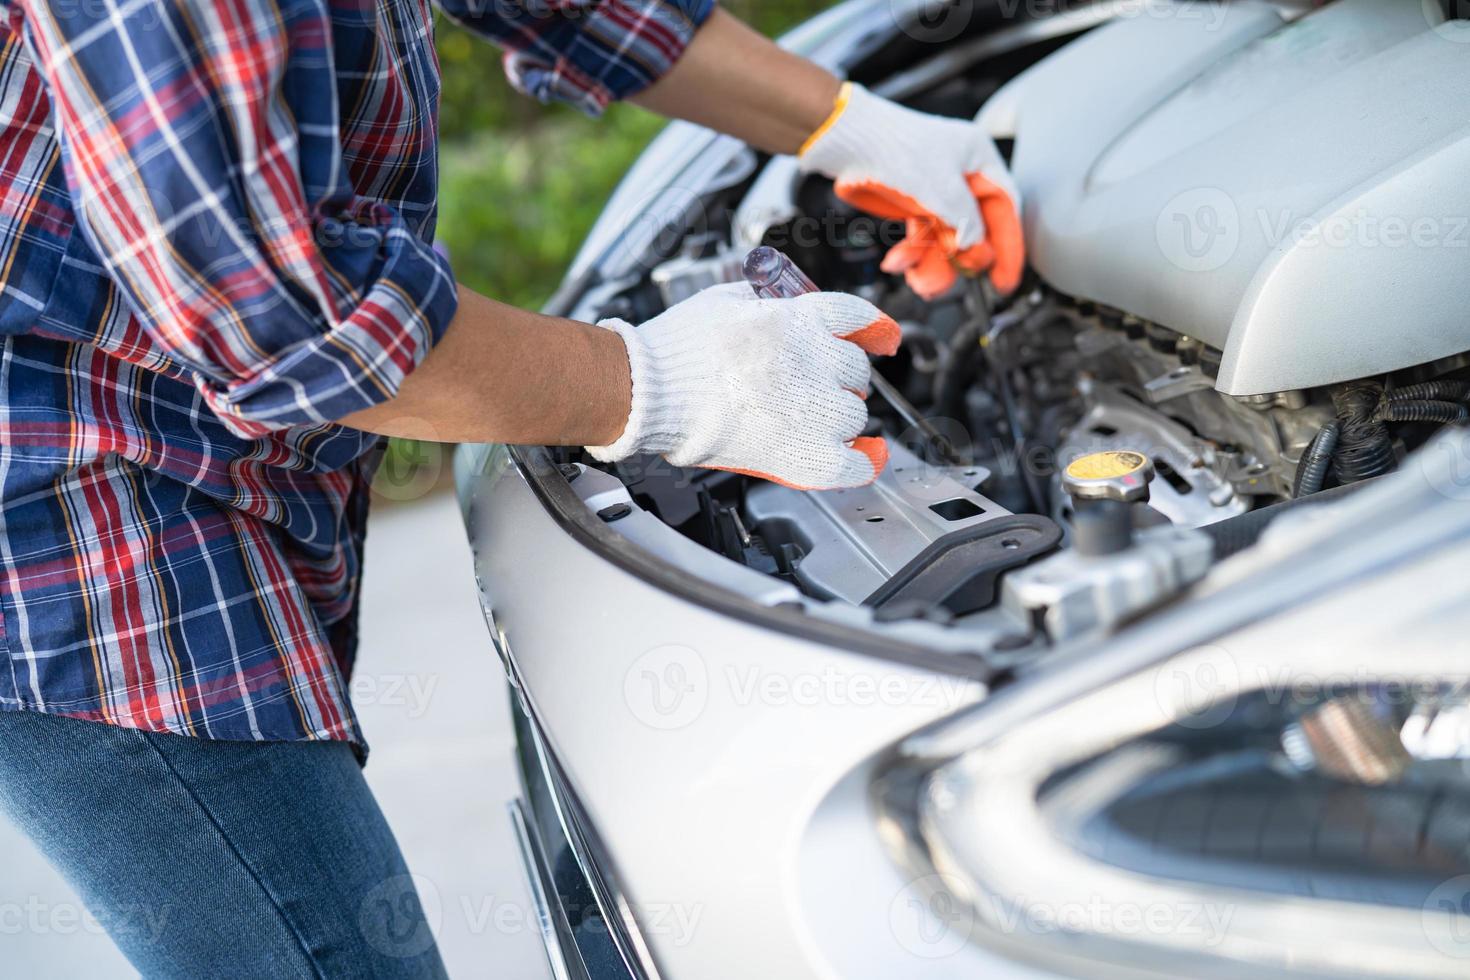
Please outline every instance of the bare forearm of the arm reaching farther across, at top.
[[841, 82], [716, 9], [667, 75], [632, 98], [644, 109], [795, 153], [832, 113]]

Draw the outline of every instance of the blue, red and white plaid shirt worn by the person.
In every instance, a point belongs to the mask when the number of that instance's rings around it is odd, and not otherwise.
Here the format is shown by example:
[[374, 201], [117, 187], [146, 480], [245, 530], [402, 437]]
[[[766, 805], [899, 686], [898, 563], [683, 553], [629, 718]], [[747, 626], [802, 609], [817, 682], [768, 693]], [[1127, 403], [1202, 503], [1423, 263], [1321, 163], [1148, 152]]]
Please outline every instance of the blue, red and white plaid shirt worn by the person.
[[[595, 112], [713, 0], [445, 0]], [[0, 0], [0, 708], [362, 743], [390, 398], [456, 309], [429, 0]]]

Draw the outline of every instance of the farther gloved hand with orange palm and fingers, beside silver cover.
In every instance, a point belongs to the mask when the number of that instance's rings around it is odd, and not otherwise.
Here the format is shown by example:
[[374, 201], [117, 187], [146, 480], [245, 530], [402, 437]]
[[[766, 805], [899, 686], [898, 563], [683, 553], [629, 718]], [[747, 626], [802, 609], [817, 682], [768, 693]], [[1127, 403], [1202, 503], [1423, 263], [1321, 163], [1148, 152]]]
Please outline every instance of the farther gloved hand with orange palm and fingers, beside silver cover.
[[904, 109], [847, 82], [828, 120], [798, 153], [854, 207], [907, 223], [883, 259], [932, 300], [954, 285], [954, 266], [989, 270], [1001, 292], [1020, 284], [1020, 194], [995, 143], [961, 119]]

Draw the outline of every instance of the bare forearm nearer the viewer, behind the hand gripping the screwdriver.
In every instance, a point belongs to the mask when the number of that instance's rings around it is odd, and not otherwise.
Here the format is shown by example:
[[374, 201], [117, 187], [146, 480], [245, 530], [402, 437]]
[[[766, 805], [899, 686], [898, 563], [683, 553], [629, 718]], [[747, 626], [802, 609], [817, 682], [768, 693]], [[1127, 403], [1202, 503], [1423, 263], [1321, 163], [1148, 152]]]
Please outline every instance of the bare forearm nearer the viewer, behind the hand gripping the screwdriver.
[[437, 442], [610, 445], [632, 382], [622, 338], [460, 287], [459, 313], [398, 394], [338, 419]]

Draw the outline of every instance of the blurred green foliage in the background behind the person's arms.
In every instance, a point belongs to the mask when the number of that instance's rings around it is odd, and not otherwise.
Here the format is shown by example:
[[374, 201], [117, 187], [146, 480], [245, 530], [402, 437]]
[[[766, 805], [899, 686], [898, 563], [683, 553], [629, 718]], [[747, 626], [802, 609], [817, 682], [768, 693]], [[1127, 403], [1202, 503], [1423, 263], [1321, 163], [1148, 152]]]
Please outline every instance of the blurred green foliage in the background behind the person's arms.
[[[829, 1], [722, 6], [776, 35]], [[440, 238], [466, 285], [535, 309], [663, 120], [625, 104], [601, 119], [538, 104], [510, 88], [488, 43], [442, 16], [437, 40], [444, 75]]]

